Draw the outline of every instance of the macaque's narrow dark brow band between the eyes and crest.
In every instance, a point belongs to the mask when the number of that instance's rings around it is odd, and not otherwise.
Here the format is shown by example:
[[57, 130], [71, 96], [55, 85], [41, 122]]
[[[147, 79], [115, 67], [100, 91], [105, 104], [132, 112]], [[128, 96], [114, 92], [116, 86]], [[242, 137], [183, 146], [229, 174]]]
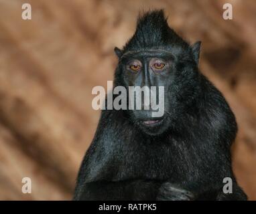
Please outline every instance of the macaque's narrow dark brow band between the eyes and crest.
[[135, 50], [127, 51], [121, 57], [121, 60], [131, 60], [131, 59], [145, 59], [145, 58], [162, 58], [164, 60], [172, 60], [174, 55], [171, 51], [166, 49], [147, 49], [147, 50]]

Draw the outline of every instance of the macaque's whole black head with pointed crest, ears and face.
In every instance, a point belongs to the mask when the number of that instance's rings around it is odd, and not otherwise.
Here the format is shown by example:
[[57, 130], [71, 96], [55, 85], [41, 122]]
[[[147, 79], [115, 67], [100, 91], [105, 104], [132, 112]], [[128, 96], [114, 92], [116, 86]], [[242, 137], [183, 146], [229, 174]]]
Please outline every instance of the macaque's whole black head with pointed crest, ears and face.
[[[153, 116], [151, 104], [149, 109], [143, 108], [142, 94], [142, 110], [127, 110], [131, 121], [144, 133], [162, 134], [189, 114], [200, 90], [199, 51], [200, 42], [189, 45], [178, 36], [168, 26], [162, 10], [139, 17], [133, 37], [123, 49], [115, 47], [119, 58], [115, 86], [125, 86], [128, 94], [129, 86], [156, 86], [156, 101], [164, 105], [163, 114]], [[164, 101], [159, 86], [164, 86]]]

